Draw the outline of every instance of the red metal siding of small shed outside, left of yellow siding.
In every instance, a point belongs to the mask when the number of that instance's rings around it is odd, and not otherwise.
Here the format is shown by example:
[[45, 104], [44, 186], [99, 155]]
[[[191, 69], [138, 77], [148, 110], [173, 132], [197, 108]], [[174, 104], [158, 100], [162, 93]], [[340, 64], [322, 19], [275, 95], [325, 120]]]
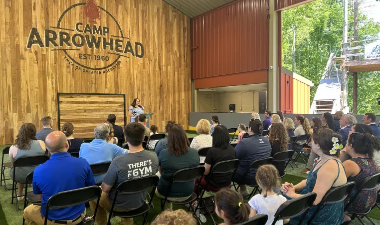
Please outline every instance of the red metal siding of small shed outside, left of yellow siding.
[[279, 110], [283, 113], [293, 113], [293, 80], [296, 81], [285, 73], [280, 75]]

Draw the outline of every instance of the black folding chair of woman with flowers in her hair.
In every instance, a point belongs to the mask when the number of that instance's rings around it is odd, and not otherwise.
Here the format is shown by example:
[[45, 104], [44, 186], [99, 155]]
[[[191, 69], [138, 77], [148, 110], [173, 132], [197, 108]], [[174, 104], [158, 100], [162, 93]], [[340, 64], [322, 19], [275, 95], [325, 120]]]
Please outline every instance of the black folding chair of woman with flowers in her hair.
[[308, 221], [308, 225], [311, 224], [314, 217], [318, 214], [318, 212], [321, 210], [321, 207], [325, 204], [333, 204], [333, 203], [339, 203], [342, 201], [345, 201], [348, 194], [351, 192], [351, 190], [355, 187], [355, 182], [348, 182], [345, 185], [331, 188], [326, 194], [325, 197], [323, 197], [320, 204], [318, 204], [317, 210], [314, 212], [314, 214], [311, 216], [311, 218]]

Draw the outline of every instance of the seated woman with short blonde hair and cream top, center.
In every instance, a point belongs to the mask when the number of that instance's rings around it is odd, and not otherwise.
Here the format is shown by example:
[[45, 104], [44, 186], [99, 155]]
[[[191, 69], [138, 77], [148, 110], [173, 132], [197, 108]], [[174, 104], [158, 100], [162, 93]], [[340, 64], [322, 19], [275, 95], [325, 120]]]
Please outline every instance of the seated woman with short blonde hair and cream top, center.
[[[205, 119], [201, 119], [196, 124], [196, 133], [198, 136], [192, 139], [190, 148], [199, 151], [201, 148], [207, 148], [212, 146], [212, 137], [210, 135], [210, 122]], [[203, 159], [204, 160], [204, 159]]]

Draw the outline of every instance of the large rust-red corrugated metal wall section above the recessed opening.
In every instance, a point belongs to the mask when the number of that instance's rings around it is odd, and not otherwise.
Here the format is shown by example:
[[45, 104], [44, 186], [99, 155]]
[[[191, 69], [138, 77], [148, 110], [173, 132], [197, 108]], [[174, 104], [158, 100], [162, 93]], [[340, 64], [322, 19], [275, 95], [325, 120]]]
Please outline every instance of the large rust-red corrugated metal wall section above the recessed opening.
[[239, 0], [191, 19], [191, 78], [269, 68], [268, 0]]

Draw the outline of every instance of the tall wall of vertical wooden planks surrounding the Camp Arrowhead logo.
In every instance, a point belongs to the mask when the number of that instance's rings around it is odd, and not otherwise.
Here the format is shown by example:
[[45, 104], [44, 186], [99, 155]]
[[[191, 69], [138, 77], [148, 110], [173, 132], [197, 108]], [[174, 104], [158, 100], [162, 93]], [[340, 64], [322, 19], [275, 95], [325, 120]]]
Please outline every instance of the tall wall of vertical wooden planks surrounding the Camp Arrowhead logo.
[[[118, 68], [107, 74], [75, 70], [65, 61], [65, 53], [52, 51], [53, 47], [26, 48], [32, 27], [36, 27], [42, 37], [45, 29], [57, 25], [68, 7], [85, 2], [0, 1], [0, 145], [13, 143], [18, 128], [25, 122], [34, 123], [40, 130], [40, 119], [46, 115], [53, 117], [53, 128], [57, 129], [57, 92], [126, 94], [127, 109], [138, 97], [145, 112], [155, 113], [152, 124], [157, 125], [159, 131], [164, 131], [169, 120], [188, 127], [190, 18], [163, 0], [96, 0], [115, 17], [132, 43], [138, 41], [144, 45], [143, 58], [121, 57]], [[98, 25], [118, 32], [115, 23], [103, 11], [101, 18]], [[73, 28], [78, 21], [88, 23], [88, 18], [83, 17], [83, 8], [79, 7], [70, 10], [61, 25]], [[86, 45], [81, 50], [88, 54], [101, 52], [86, 49]], [[78, 56], [79, 51], [72, 52], [70, 54]], [[102, 66], [104, 62], [93, 61], [91, 65]]]

